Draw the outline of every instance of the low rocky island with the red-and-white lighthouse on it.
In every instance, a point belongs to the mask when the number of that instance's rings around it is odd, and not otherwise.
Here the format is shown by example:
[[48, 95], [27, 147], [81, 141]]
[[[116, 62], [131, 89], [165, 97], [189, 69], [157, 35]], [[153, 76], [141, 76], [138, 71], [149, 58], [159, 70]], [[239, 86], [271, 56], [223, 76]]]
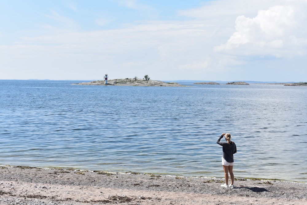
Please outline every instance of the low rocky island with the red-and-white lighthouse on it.
[[175, 82], [165, 83], [163, 81], [142, 80], [135, 78], [112, 79], [108, 80], [108, 84], [105, 84], [105, 81], [91, 81], [87, 83], [75, 83], [73, 85], [130, 85], [130, 86], [187, 87], [186, 85], [181, 85]]

